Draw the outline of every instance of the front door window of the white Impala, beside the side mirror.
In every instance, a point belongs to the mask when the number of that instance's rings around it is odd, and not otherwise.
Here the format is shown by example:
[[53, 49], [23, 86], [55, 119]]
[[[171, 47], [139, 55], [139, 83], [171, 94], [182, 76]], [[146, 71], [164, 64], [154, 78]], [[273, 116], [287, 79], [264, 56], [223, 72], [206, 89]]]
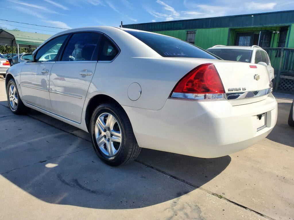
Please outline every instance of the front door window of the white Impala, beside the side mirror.
[[[65, 39], [67, 38], [67, 36], [68, 34], [56, 37], [50, 40], [49, 42], [47, 42], [45, 45], [43, 45], [36, 53], [36, 56], [35, 56], [36, 62], [56, 61], [56, 55], [58, 51], [60, 50], [62, 44], [64, 43]], [[55, 56], [48, 56], [51, 54], [55, 54]], [[50, 59], [50, 57], [54, 57], [54, 59]], [[49, 58], [49, 60], [46, 58]]]

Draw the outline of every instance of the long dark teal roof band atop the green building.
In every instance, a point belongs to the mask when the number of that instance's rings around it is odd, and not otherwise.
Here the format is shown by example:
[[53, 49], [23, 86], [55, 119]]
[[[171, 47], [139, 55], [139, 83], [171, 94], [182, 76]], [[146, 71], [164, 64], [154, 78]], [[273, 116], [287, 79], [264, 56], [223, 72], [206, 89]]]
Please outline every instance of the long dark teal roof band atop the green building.
[[294, 23], [294, 10], [275, 11], [266, 13], [243, 14], [212, 18], [197, 18], [178, 21], [163, 21], [153, 23], [139, 23], [123, 25], [143, 31], [188, 30], [196, 28], [237, 28], [282, 26]]

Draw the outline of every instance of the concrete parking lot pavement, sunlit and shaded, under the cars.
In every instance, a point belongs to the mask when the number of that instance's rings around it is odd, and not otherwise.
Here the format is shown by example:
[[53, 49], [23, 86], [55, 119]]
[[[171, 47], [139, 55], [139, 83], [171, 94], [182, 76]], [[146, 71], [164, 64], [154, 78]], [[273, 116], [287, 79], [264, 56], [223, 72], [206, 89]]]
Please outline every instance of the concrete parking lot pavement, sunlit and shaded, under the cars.
[[0, 78], [0, 218], [294, 219], [292, 96], [275, 96], [277, 125], [246, 150], [204, 159], [142, 149], [109, 167], [88, 133], [12, 114]]

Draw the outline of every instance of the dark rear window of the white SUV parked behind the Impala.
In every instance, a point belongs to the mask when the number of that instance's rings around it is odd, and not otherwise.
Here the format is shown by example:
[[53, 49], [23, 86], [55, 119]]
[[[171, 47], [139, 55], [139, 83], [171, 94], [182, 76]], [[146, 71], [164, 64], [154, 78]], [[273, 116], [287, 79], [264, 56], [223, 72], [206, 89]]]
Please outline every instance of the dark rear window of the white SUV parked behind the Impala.
[[222, 58], [223, 60], [232, 60], [249, 63], [251, 60], [252, 50], [240, 49], [208, 49], [210, 53]]

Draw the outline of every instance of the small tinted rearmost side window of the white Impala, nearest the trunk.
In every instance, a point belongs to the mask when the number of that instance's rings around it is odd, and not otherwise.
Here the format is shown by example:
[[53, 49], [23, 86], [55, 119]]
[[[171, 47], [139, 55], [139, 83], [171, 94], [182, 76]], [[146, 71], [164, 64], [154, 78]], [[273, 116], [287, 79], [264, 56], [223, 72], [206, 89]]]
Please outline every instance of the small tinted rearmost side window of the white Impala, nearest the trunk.
[[98, 61], [111, 61], [118, 54], [118, 48], [109, 40], [103, 36], [100, 44]]

